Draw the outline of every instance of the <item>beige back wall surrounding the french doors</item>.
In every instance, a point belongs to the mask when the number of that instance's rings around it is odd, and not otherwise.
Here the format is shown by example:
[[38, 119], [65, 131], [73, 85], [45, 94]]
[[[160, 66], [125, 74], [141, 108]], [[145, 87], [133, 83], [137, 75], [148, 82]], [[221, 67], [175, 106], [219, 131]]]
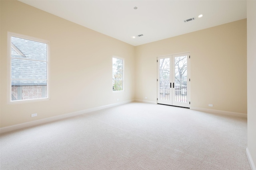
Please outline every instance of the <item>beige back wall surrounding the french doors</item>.
[[137, 100], [156, 102], [156, 57], [190, 52], [190, 106], [247, 113], [246, 19], [135, 49]]

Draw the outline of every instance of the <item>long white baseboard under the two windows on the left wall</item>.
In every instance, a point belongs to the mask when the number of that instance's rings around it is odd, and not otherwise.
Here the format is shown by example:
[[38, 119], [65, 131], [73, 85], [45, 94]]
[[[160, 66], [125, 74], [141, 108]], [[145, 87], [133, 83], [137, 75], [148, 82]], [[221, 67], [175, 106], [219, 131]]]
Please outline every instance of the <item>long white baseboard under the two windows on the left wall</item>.
[[91, 109], [75, 111], [75, 112], [72, 112], [72, 113], [66, 113], [66, 114], [63, 114], [63, 115], [48, 117], [48, 118], [39, 119], [39, 120], [36, 120], [36, 121], [29, 121], [29, 122], [20, 123], [20, 124], [17, 124], [17, 125], [6, 126], [6, 127], [0, 128], [0, 133], [14, 131], [14, 130], [22, 129], [22, 128], [26, 128], [26, 127], [32, 127], [32, 126], [40, 125], [40, 124], [43, 124], [43, 123], [48, 123], [48, 122], [51, 122], [51, 121], [64, 119], [64, 118], [67, 118], [67, 117], [73, 117], [73, 116], [76, 116], [76, 115], [82, 115], [84, 113], [89, 113], [89, 112], [92, 112], [92, 111], [106, 109], [108, 107], [114, 107], [114, 106], [118, 106], [118, 105], [122, 105], [122, 104], [127, 104], [127, 103], [130, 103], [130, 102], [134, 102], [134, 100], [127, 100], [127, 101], [124, 101], [124, 102], [118, 102], [118, 103], [114, 103], [114, 104], [110, 104], [110, 105], [94, 107], [94, 108], [91, 108]]

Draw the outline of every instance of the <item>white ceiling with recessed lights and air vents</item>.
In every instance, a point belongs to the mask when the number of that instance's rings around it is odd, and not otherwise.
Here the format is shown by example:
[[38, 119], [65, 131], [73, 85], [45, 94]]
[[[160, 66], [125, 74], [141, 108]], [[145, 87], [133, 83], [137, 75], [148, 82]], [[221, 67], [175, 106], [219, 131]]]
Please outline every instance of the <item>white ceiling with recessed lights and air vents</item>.
[[20, 1], [134, 46], [246, 18], [246, 0]]

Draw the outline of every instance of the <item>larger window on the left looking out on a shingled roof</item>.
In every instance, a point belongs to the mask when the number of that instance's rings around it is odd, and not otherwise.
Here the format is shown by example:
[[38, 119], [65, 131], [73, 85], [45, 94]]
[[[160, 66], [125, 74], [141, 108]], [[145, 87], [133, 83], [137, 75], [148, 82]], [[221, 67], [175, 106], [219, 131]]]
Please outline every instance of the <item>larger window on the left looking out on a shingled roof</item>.
[[49, 99], [49, 42], [8, 33], [10, 103]]

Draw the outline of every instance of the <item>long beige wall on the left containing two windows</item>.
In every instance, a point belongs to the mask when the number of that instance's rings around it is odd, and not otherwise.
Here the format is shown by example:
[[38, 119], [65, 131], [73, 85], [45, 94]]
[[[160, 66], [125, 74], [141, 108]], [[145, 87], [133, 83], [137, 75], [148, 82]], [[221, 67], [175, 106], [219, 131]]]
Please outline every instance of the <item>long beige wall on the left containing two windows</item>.
[[[134, 99], [134, 46], [19, 1], [0, 3], [1, 127]], [[50, 41], [50, 100], [7, 104], [7, 31]], [[112, 92], [113, 55], [125, 60], [125, 92]]]

